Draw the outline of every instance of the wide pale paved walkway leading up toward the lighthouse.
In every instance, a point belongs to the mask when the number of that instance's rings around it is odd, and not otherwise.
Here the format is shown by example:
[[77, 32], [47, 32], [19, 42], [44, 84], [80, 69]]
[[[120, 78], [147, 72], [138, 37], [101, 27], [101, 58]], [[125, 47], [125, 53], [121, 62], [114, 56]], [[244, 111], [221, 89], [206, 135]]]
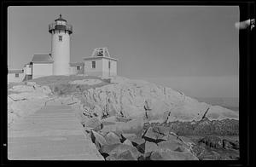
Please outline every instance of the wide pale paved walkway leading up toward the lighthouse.
[[8, 130], [9, 160], [104, 160], [70, 107], [49, 106]]

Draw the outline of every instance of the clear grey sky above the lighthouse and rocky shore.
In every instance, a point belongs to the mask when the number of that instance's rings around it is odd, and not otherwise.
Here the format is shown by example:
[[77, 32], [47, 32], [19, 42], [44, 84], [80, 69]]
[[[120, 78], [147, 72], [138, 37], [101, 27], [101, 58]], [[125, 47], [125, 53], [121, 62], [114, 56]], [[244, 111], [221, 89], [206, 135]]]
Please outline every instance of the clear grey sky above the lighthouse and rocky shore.
[[48, 25], [73, 25], [71, 62], [108, 47], [118, 75], [194, 97], [238, 97], [237, 6], [29, 6], [8, 9], [8, 66], [50, 53]]

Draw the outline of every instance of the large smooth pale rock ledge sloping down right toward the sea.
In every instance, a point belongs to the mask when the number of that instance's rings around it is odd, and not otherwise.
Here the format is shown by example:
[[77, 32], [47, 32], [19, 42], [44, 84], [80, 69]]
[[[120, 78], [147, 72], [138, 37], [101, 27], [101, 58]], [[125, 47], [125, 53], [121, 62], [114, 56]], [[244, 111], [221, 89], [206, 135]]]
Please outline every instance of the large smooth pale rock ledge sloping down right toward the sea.
[[84, 101], [96, 103], [109, 115], [116, 114], [124, 118], [144, 116], [149, 121], [199, 121], [204, 115], [210, 120], [239, 118], [237, 112], [224, 107], [212, 107], [171, 88], [139, 80], [121, 80], [86, 90]]

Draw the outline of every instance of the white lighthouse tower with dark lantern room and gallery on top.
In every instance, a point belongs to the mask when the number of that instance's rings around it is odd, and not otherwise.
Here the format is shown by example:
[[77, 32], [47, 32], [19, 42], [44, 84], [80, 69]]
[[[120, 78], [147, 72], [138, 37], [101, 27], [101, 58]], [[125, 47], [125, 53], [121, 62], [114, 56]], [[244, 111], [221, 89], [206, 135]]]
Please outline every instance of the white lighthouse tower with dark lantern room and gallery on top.
[[73, 26], [62, 19], [61, 14], [54, 23], [49, 24], [51, 33], [51, 56], [54, 60], [53, 75], [68, 75], [70, 63], [70, 35]]

